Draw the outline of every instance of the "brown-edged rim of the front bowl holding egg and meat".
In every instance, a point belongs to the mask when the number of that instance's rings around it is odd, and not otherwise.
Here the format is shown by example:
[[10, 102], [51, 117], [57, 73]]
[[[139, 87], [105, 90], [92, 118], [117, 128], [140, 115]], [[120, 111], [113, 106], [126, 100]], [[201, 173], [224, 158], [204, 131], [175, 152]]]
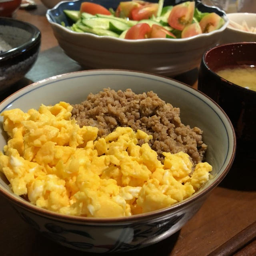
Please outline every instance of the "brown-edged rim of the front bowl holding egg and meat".
[[[51, 82], [54, 81], [56, 79], [59, 79], [61, 77], [65, 77], [68, 75], [74, 75], [74, 74], [82, 74], [82, 73], [88, 73], [88, 72], [102, 72], [102, 71], [114, 71], [114, 72], [129, 72], [132, 74], [146, 74], [149, 76], [154, 76], [154, 77], [159, 77], [159, 78], [163, 78], [164, 80], [172, 80], [174, 82], [177, 82], [178, 84], [181, 84], [182, 86], [185, 86], [188, 88], [188, 90], [192, 90], [192, 92], [196, 92], [197, 94], [201, 95], [203, 98], [207, 98], [207, 100], [209, 100], [215, 107], [217, 107], [220, 112], [222, 112], [223, 116], [226, 118], [227, 123], [229, 124], [229, 127], [231, 128], [231, 133], [232, 133], [232, 141], [234, 143], [234, 146], [232, 148], [232, 150], [230, 150], [231, 152], [231, 156], [230, 156], [230, 160], [227, 163], [226, 168], [223, 170], [223, 172], [220, 174], [220, 176], [218, 178], [216, 178], [216, 180], [214, 180], [208, 187], [202, 189], [201, 191], [199, 191], [197, 194], [194, 194], [194, 196], [192, 195], [190, 198], [187, 198], [186, 200], [183, 200], [181, 202], [178, 202], [172, 206], [169, 206], [167, 208], [162, 208], [160, 210], [155, 210], [152, 212], [147, 212], [147, 213], [142, 213], [142, 214], [136, 214], [136, 215], [132, 215], [132, 216], [124, 216], [124, 217], [112, 217], [112, 218], [95, 218], [95, 217], [83, 217], [83, 216], [72, 216], [72, 215], [66, 215], [66, 214], [60, 214], [57, 212], [53, 212], [50, 210], [46, 210], [43, 208], [40, 208], [36, 205], [31, 204], [28, 201], [25, 200], [21, 200], [20, 196], [16, 196], [14, 193], [10, 192], [10, 191], [6, 191], [4, 188], [2, 188], [2, 186], [0, 185], [0, 194], [2, 194], [4, 197], [8, 198], [12, 203], [24, 208], [25, 210], [32, 212], [36, 215], [40, 215], [43, 216], [44, 218], [55, 218], [58, 219], [58, 221], [60, 222], [66, 222], [66, 221], [71, 221], [71, 222], [82, 222], [82, 224], [86, 224], [86, 225], [93, 225], [93, 224], [113, 224], [113, 223], [119, 223], [122, 224], [124, 222], [133, 222], [133, 221], [138, 221], [138, 220], [146, 220], [148, 218], [154, 218], [154, 217], [159, 217], [159, 216], [163, 216], [166, 214], [170, 214], [176, 210], [179, 210], [180, 208], [183, 208], [185, 206], [188, 206], [188, 204], [196, 201], [199, 198], [202, 198], [203, 196], [206, 196], [206, 194], [208, 194], [208, 192], [210, 192], [213, 188], [215, 188], [221, 181], [222, 179], [226, 176], [226, 174], [228, 173], [229, 169], [231, 168], [233, 162], [234, 162], [234, 158], [235, 158], [235, 153], [236, 153], [236, 136], [235, 136], [235, 131], [234, 128], [232, 126], [232, 123], [230, 121], [230, 119], [228, 118], [227, 114], [224, 112], [224, 110], [222, 110], [222, 108], [216, 103], [214, 102], [214, 100], [212, 100], [210, 97], [208, 97], [206, 94], [204, 94], [203, 92], [200, 92], [199, 90], [196, 90], [195, 88], [192, 88], [191, 86], [180, 82], [178, 80], [175, 80], [173, 78], [168, 78], [166, 76], [162, 76], [159, 74], [151, 74], [148, 72], [144, 72], [144, 71], [135, 71], [135, 70], [121, 70], [121, 69], [95, 69], [95, 70], [81, 70], [81, 71], [75, 71], [75, 72], [69, 72], [69, 73], [65, 73], [65, 74], [61, 74], [58, 76], [52, 76], [49, 78], [46, 78], [44, 80], [40, 80], [38, 82], [34, 82], [28, 86], [25, 86], [24, 88], [21, 88], [20, 90], [14, 92], [13, 94], [11, 94], [10, 96], [8, 96], [6, 99], [4, 99], [2, 102], [0, 102], [0, 106], [9, 98], [16, 98], [16, 94], [18, 96], [18, 93], [24, 91], [25, 93], [30, 92], [31, 90], [35, 90], [37, 87], [40, 87], [40, 84], [42, 83], [46, 83], [46, 82]], [[28, 92], [26, 92], [28, 91]], [[19, 97], [19, 96], [18, 96]]]

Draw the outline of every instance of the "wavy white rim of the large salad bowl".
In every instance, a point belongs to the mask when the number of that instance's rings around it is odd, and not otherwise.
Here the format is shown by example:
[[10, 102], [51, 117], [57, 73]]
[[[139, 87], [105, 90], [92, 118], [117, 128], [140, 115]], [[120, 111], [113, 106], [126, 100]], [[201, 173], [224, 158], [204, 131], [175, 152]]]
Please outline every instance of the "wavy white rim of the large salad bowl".
[[[211, 32], [208, 32], [208, 33], [202, 33], [202, 34], [199, 34], [199, 35], [196, 35], [196, 36], [190, 36], [188, 38], [147, 38], [146, 40], [145, 39], [136, 39], [136, 40], [131, 40], [131, 39], [123, 39], [123, 38], [117, 38], [117, 37], [113, 37], [113, 36], [98, 36], [96, 34], [92, 34], [92, 33], [88, 33], [88, 32], [75, 32], [75, 31], [72, 31], [68, 28], [66, 28], [65, 26], [62, 26], [61, 24], [55, 22], [53, 19], [52, 19], [52, 12], [54, 10], [57, 10], [62, 4], [65, 4], [65, 3], [69, 3], [69, 2], [79, 2], [81, 0], [74, 0], [74, 1], [68, 1], [68, 0], [64, 0], [64, 1], [61, 1], [59, 2], [58, 4], [56, 4], [53, 8], [51, 9], [48, 9], [46, 11], [46, 18], [48, 20], [48, 22], [50, 22], [51, 25], [54, 25], [54, 26], [57, 26], [59, 29], [65, 31], [65, 32], [69, 32], [71, 35], [72, 34], [80, 34], [80, 35], [84, 35], [84, 36], [92, 36], [92, 38], [111, 38], [112, 40], [117, 40], [117, 41], [120, 41], [122, 43], [129, 43], [129, 44], [140, 44], [142, 42], [148, 42], [148, 41], [155, 41], [155, 42], [159, 42], [159, 41], [166, 41], [166, 42], [186, 42], [186, 41], [191, 41], [193, 40], [194, 38], [206, 38], [208, 36], [211, 36], [211, 35], [214, 35], [214, 34], [218, 34], [222, 31], [224, 31], [227, 26], [228, 26], [228, 23], [229, 23], [229, 20], [227, 18], [227, 15], [226, 15], [226, 12], [224, 12], [224, 10], [220, 9], [219, 7], [217, 6], [208, 6], [206, 4], [203, 4], [200, 0], [195, 0], [196, 3], [198, 4], [201, 4], [203, 6], [207, 6], [207, 7], [210, 7], [212, 9], [216, 9], [218, 10], [219, 12], [222, 12], [223, 16], [222, 18], [224, 19], [224, 24], [222, 25], [221, 28], [217, 29], [217, 30], [213, 30]], [[185, 0], [181, 0], [183, 2], [185, 2]], [[191, 1], [191, 0], [188, 0], [188, 1]], [[121, 1], [120, 1], [121, 2]], [[175, 4], [176, 5], [176, 4]]]

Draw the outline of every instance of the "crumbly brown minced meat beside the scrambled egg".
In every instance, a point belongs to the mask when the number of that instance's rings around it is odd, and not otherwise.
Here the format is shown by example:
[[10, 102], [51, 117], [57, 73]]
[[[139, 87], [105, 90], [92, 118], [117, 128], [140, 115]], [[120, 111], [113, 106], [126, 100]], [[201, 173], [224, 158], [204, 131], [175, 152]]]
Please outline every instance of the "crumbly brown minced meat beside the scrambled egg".
[[116, 92], [108, 88], [98, 94], [90, 93], [84, 102], [73, 107], [72, 117], [79, 126], [98, 127], [99, 138], [118, 126], [130, 126], [153, 136], [149, 144], [161, 161], [162, 152], [180, 151], [187, 153], [195, 164], [203, 161], [207, 146], [202, 141], [202, 130], [182, 124], [180, 109], [152, 91], [135, 94], [131, 89]]

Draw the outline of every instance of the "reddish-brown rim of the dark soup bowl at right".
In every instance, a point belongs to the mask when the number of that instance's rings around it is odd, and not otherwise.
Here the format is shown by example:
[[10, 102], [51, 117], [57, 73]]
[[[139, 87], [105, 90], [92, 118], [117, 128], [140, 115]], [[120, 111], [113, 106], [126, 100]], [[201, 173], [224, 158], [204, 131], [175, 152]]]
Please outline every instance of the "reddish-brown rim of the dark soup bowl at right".
[[210, 49], [208, 49], [206, 52], [204, 52], [203, 54], [203, 57], [202, 57], [202, 62], [204, 64], [204, 66], [208, 69], [208, 71], [210, 71], [210, 73], [214, 76], [217, 76], [218, 78], [220, 78], [222, 81], [226, 82], [229, 86], [231, 86], [232, 88], [235, 88], [235, 90], [241, 90], [243, 92], [246, 92], [248, 94], [255, 94], [256, 95], [256, 91], [254, 90], [250, 90], [248, 88], [245, 88], [243, 86], [240, 86], [240, 85], [237, 85], [237, 84], [234, 84], [228, 80], [226, 80], [225, 78], [223, 78], [222, 76], [219, 76], [218, 74], [216, 74], [216, 72], [214, 72], [209, 66], [208, 64], [206, 63], [206, 55], [209, 54], [212, 50], [215, 50], [217, 48], [223, 48], [223, 47], [226, 47], [226, 46], [235, 46], [235, 45], [239, 45], [239, 44], [252, 44], [256, 47], [256, 42], [236, 42], [236, 43], [228, 43], [228, 44], [220, 44], [220, 45], [217, 45], [217, 46], [214, 46]]

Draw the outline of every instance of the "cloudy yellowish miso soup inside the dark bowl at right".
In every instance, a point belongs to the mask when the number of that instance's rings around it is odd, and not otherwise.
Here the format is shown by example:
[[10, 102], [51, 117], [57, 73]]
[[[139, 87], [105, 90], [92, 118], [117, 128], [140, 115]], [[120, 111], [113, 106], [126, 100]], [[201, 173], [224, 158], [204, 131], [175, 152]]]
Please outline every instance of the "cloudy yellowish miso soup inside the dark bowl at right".
[[256, 91], [256, 66], [226, 67], [216, 71], [224, 79], [244, 88]]

